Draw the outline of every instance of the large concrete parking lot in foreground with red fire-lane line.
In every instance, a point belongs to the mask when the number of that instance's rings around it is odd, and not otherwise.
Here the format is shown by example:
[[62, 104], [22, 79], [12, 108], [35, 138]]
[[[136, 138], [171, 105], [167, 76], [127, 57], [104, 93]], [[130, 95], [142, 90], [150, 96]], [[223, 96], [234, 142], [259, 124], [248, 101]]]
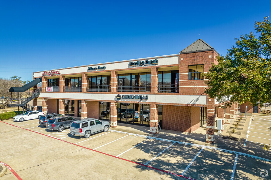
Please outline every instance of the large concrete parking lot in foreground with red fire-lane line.
[[[257, 121], [251, 122], [248, 141], [258, 132], [254, 122], [267, 124], [267, 120]], [[6, 137], [0, 140], [0, 160], [22, 179], [183, 179], [178, 175], [194, 179], [270, 179], [270, 175], [260, 174], [262, 169], [270, 170], [270, 162], [208, 146], [120, 133], [114, 128], [85, 139], [72, 136], [69, 129], [45, 129], [37, 119], [5, 122], [0, 122], [1, 137]], [[2, 178], [16, 179], [9, 171]]]

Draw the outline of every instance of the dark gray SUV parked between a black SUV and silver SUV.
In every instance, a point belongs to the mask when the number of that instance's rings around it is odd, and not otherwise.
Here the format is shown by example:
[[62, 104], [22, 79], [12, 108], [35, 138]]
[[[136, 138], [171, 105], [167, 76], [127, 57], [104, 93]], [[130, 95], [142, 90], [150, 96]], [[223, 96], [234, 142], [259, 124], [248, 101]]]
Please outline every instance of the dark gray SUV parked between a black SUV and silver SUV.
[[74, 121], [75, 118], [72, 118], [71, 116], [59, 116], [56, 118], [51, 118], [46, 123], [46, 129], [61, 132], [65, 128], [69, 128]]

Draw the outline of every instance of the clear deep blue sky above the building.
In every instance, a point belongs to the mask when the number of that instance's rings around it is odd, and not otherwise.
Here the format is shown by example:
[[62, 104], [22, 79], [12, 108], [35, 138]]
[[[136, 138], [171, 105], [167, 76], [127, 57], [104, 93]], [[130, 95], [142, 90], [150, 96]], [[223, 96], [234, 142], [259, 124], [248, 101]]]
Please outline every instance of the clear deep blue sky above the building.
[[[177, 54], [203, 39], [220, 54], [271, 1], [1, 1], [0, 77]], [[270, 18], [270, 17], [269, 17]]]

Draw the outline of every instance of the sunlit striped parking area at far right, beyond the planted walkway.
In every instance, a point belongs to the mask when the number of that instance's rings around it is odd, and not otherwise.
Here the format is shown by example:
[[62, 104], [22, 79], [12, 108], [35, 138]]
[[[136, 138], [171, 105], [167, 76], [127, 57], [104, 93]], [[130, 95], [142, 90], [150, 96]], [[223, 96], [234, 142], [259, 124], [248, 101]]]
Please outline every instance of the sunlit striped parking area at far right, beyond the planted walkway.
[[271, 144], [271, 131], [268, 129], [271, 127], [271, 118], [268, 116], [254, 116], [250, 122], [247, 144], [260, 143]]

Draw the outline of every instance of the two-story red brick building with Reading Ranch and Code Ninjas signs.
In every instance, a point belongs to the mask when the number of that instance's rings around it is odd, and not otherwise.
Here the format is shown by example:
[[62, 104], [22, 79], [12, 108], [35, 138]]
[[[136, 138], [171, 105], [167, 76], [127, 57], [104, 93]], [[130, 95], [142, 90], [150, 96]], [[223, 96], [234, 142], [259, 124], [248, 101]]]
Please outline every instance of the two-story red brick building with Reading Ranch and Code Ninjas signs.
[[113, 128], [149, 126], [152, 134], [158, 123], [184, 132], [207, 123], [206, 141], [213, 143], [215, 114], [225, 123], [237, 114], [232, 106], [224, 115], [215, 99], [202, 94], [203, 74], [218, 63], [217, 55], [198, 39], [178, 54], [34, 72], [33, 79], [42, 79], [44, 112], [107, 120]]

